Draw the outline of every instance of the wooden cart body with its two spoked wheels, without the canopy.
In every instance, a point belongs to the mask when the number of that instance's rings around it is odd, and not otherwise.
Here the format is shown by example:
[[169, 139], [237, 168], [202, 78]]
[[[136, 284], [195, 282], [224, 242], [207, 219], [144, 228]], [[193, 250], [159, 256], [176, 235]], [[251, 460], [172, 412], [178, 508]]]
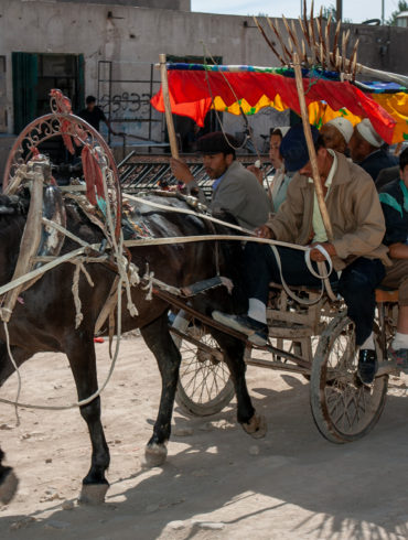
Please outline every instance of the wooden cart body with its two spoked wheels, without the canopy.
[[[308, 303], [314, 303], [300, 304], [281, 285], [271, 283], [267, 310], [269, 343], [257, 347], [246, 342], [246, 364], [303, 375], [310, 380], [311, 411], [321, 434], [333, 443], [355, 441], [377, 423], [389, 375], [398, 374], [387, 360], [398, 294], [376, 291], [375, 345], [379, 368], [374, 382], [367, 386], [357, 376], [354, 323], [343, 302], [308, 288], [293, 290]], [[234, 397], [233, 381], [211, 326], [219, 330], [219, 323], [207, 317], [203, 322], [190, 306], [179, 312], [171, 326], [182, 354], [176, 401], [183, 411], [198, 417], [222, 411]]]

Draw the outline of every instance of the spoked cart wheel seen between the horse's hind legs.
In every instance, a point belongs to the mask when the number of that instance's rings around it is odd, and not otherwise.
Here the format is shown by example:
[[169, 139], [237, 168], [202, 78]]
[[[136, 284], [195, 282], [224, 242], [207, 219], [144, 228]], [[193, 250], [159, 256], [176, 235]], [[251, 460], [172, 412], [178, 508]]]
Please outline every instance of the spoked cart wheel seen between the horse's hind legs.
[[[205, 326], [186, 317], [189, 315], [180, 312], [172, 326], [206, 345], [206, 348], [172, 334], [182, 356], [175, 401], [189, 414], [208, 417], [229, 403], [235, 393], [234, 385], [217, 342]], [[214, 349], [214, 354], [207, 347]]]

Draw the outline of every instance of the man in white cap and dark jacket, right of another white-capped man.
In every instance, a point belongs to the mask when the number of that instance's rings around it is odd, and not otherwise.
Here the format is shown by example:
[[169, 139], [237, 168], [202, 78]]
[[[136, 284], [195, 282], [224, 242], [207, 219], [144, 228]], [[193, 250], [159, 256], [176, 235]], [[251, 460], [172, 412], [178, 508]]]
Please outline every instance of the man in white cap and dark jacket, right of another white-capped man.
[[355, 163], [358, 163], [374, 180], [379, 171], [398, 165], [398, 160], [386, 152], [382, 145], [384, 141], [373, 128], [368, 118], [364, 118], [354, 128], [350, 140], [350, 152]]

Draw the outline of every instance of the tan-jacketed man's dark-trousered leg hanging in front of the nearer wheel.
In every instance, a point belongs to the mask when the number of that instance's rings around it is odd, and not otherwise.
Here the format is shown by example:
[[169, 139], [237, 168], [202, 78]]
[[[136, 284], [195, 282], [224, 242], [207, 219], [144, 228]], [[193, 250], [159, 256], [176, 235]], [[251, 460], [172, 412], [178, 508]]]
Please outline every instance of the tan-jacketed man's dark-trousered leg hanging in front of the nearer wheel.
[[356, 345], [361, 348], [358, 375], [363, 382], [373, 382], [377, 370], [373, 324], [375, 289], [385, 276], [379, 259], [356, 259], [342, 272], [339, 292], [347, 305], [347, 314], [355, 324]]

